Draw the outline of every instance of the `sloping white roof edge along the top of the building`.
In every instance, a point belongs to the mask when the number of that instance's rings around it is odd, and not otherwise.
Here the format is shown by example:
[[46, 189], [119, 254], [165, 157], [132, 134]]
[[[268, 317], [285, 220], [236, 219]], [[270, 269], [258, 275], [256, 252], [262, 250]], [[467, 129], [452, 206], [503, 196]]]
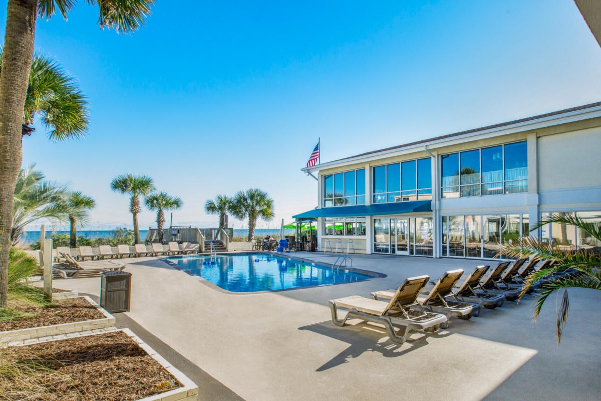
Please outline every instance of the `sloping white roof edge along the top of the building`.
[[[372, 150], [370, 152], [359, 153], [358, 155], [349, 156], [347, 158], [337, 159], [337, 160], [334, 160], [331, 162], [326, 162], [323, 164], [317, 164], [313, 167], [305, 167], [305, 168], [302, 168], [301, 170], [302, 171], [316, 171], [316, 170], [320, 170], [322, 168], [334, 167], [335, 165], [338, 165], [338, 164], [341, 164], [344, 162], [348, 162], [348, 161], [358, 161], [359, 159], [366, 159], [366, 158], [368, 158], [370, 156], [374, 156], [374, 155], [381, 155], [381, 154], [386, 154], [386, 153], [392, 153], [397, 150], [415, 148], [415, 147], [418, 147], [418, 145], [419, 146], [421, 146], [421, 145], [427, 146], [428, 144], [445, 142], [445, 141], [447, 141], [447, 139], [454, 139], [459, 136], [472, 136], [470, 134], [480, 134], [480, 133], [501, 131], [502, 129], [508, 129], [511, 126], [521, 127], [521, 126], [525, 126], [528, 124], [534, 124], [534, 123], [538, 122], [538, 120], [548, 123], [549, 121], [559, 120], [562, 117], [566, 117], [566, 114], [567, 115], [580, 114], [580, 113], [578, 113], [579, 111], [591, 111], [590, 109], [595, 109], [595, 108], [597, 108], [599, 111], [601, 111], [601, 102], [590, 103], [588, 105], [576, 106], [576, 107], [572, 107], [569, 109], [563, 109], [563, 110], [553, 111], [553, 112], [549, 112], [549, 113], [545, 113], [545, 114], [534, 115], [532, 117], [520, 118], [519, 120], [507, 121], [505, 123], [493, 124], [493, 125], [489, 125], [489, 126], [485, 126], [485, 127], [468, 129], [468, 130], [455, 132], [455, 133], [449, 133], [447, 135], [435, 136], [434, 138], [422, 139], [420, 141], [409, 142], [409, 143], [406, 143], [403, 145], [396, 145], [396, 146], [392, 146], [392, 147], [382, 148], [379, 150]], [[559, 124], [559, 123], [557, 123], [557, 124]], [[555, 124], [545, 124], [545, 126], [551, 126], [551, 125], [555, 125]]]

